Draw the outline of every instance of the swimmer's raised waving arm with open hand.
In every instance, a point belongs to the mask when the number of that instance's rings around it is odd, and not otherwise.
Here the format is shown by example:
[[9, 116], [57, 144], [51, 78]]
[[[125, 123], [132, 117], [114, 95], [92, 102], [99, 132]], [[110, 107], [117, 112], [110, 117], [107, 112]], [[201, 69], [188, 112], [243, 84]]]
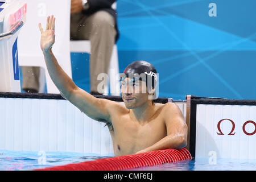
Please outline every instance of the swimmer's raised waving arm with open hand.
[[106, 123], [110, 122], [108, 108], [111, 108], [115, 103], [113, 101], [96, 98], [79, 88], [57, 63], [52, 52], [52, 46], [55, 42], [55, 18], [53, 15], [47, 18], [46, 30], [43, 30], [41, 23], [39, 23], [39, 29], [41, 31], [40, 46], [43, 51], [49, 76], [60, 90], [61, 96], [77, 106], [90, 118]]

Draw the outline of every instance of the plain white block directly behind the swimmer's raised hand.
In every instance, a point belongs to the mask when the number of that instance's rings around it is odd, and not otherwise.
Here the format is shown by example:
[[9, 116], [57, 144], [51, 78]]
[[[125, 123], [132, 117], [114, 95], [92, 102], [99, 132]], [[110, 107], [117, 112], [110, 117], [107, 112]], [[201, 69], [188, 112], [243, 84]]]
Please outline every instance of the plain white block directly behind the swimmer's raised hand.
[[[49, 76], [44, 56], [40, 48], [41, 33], [38, 24], [42, 23], [46, 29], [46, 19], [54, 15], [55, 22], [55, 44], [52, 51], [60, 67], [72, 78], [71, 59], [69, 51], [69, 30], [70, 30], [70, 6], [71, 1], [65, 0], [26, 0], [27, 2], [27, 23], [19, 35], [18, 49], [20, 66], [40, 67], [44, 69], [47, 93], [60, 93], [51, 77]], [[41, 72], [42, 73], [42, 72]], [[44, 75], [40, 73], [39, 93], [44, 90]], [[42, 88], [43, 86], [43, 88]]]

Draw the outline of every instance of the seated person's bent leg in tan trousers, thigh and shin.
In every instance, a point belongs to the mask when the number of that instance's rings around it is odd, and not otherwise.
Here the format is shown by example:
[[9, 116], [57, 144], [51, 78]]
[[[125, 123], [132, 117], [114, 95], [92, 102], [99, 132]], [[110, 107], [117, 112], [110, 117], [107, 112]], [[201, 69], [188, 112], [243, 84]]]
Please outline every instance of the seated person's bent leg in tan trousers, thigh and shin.
[[71, 29], [76, 27], [76, 30], [71, 30], [71, 38], [90, 40], [90, 92], [98, 94], [97, 86], [101, 80], [98, 81], [97, 77], [100, 73], [108, 74], [115, 44], [114, 18], [106, 11], [97, 11], [89, 16], [72, 14], [71, 20]]

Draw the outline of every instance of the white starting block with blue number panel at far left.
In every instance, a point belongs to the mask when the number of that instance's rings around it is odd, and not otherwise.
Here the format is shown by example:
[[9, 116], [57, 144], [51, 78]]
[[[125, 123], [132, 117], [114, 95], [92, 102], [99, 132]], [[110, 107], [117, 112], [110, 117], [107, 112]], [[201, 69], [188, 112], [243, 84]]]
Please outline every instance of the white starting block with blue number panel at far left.
[[17, 40], [26, 13], [22, 1], [0, 1], [0, 92], [20, 92]]

